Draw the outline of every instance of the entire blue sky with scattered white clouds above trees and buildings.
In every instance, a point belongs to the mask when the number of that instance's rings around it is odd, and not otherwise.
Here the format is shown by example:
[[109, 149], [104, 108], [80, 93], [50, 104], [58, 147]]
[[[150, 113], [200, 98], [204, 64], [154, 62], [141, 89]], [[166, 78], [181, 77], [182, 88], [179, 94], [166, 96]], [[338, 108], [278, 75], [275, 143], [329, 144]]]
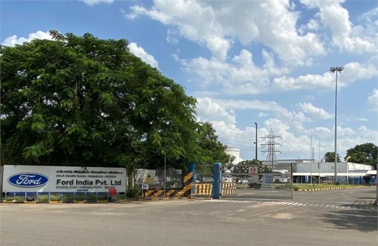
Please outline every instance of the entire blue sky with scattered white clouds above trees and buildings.
[[[270, 129], [279, 159], [309, 158], [310, 137], [333, 151], [339, 75], [338, 153], [378, 142], [378, 8], [375, 1], [2, 1], [1, 42], [48, 30], [129, 40], [130, 50], [198, 98], [198, 118], [220, 140], [255, 156]], [[259, 140], [261, 141], [261, 140]], [[262, 148], [259, 146], [259, 151]], [[265, 159], [259, 153], [260, 159]]]

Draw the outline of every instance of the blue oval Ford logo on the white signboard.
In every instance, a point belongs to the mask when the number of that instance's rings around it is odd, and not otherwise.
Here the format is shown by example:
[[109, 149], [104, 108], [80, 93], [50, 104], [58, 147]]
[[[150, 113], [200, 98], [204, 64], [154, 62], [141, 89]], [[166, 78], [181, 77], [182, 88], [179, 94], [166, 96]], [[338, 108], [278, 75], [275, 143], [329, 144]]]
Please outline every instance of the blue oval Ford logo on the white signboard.
[[8, 182], [19, 187], [38, 187], [48, 183], [48, 177], [39, 173], [18, 173], [9, 177]]

